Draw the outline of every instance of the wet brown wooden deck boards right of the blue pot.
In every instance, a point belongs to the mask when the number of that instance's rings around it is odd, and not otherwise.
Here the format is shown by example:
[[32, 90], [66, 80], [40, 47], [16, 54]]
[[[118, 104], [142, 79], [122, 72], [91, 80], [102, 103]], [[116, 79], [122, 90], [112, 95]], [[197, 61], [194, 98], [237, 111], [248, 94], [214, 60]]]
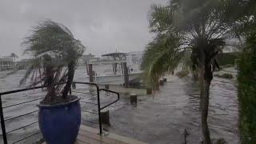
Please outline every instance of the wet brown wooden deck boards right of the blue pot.
[[78, 140], [75, 144], [146, 144], [132, 138], [126, 138], [118, 134], [99, 135], [98, 130], [89, 126], [80, 126]]

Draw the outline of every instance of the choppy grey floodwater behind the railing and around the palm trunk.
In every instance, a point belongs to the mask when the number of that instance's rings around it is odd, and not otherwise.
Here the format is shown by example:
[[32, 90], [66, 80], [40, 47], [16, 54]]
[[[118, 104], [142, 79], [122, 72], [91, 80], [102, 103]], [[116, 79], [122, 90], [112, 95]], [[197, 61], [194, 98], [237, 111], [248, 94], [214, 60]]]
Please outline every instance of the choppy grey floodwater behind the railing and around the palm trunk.
[[[20, 70], [6, 78], [0, 78], [0, 91], [20, 88], [18, 82], [24, 73], [24, 70]], [[78, 69], [74, 80], [88, 81], [86, 70]], [[188, 143], [199, 143], [202, 139], [202, 133], [198, 110], [198, 83], [191, 81], [190, 78], [170, 77], [167, 80], [168, 82], [161, 86], [156, 94], [139, 94], [137, 106], [130, 105], [129, 95], [122, 94], [121, 100], [109, 108], [111, 126], [105, 126], [105, 128], [115, 134], [149, 143], [182, 143], [184, 142], [183, 131], [186, 129], [190, 134], [187, 138]], [[118, 88], [110, 86], [111, 89], [116, 90]], [[86, 91], [89, 90], [89, 87], [78, 86], [78, 90]], [[112, 94], [102, 93], [102, 106], [116, 98]], [[134, 93], [134, 91], [130, 93]], [[42, 98], [44, 94], [41, 90], [31, 90], [26, 93], [6, 95], [2, 98], [3, 105], [10, 106], [10, 104]], [[95, 96], [78, 95], [82, 97], [82, 102], [94, 103], [97, 101]], [[38, 101], [6, 108], [4, 110], [5, 118], [13, 118], [15, 115], [37, 110], [35, 106], [37, 103]], [[82, 103], [82, 110], [95, 112], [97, 109], [91, 104]], [[97, 122], [97, 115], [82, 112], [82, 118], [85, 120], [82, 121], [83, 124], [97, 126], [91, 123]], [[212, 138], [225, 138], [229, 143], [238, 143], [237, 120], [238, 100], [234, 82], [223, 78], [214, 78], [210, 87], [208, 119]], [[35, 121], [37, 121], [37, 114], [29, 114], [26, 117], [6, 122], [6, 129], [7, 131], [14, 130]], [[8, 134], [8, 140], [14, 142], [37, 131], [38, 126], [36, 124]], [[30, 140], [30, 142], [32, 141]]]

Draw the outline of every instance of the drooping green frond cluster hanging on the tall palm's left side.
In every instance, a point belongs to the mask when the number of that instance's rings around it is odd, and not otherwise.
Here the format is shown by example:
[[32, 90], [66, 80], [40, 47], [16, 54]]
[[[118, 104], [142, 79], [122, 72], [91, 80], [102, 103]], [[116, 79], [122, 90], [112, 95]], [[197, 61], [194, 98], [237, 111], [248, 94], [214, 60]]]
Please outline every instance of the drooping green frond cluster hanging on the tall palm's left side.
[[173, 71], [182, 59], [184, 50], [179, 49], [178, 38], [172, 34], [161, 34], [146, 46], [142, 59], [142, 70], [147, 86], [155, 88], [158, 79]]

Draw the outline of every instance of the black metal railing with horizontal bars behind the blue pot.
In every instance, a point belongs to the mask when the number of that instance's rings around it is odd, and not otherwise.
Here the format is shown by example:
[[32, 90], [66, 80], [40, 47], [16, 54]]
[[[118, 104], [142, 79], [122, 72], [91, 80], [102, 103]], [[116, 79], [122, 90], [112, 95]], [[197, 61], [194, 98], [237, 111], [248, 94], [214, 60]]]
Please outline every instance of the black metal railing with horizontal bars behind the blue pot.
[[[107, 106], [110, 106], [110, 105], [114, 104], [115, 102], [118, 102], [118, 100], [120, 98], [119, 94], [117, 92], [112, 91], [112, 90], [100, 89], [99, 86], [96, 83], [91, 83], [91, 82], [73, 82], [73, 83], [74, 84], [82, 84], [82, 85], [90, 85], [90, 86], [95, 86], [96, 87], [97, 103], [92, 103], [92, 102], [84, 102], [84, 103], [90, 103], [90, 104], [97, 105], [98, 106], [98, 113], [94, 113], [94, 112], [90, 112], [90, 111], [83, 111], [83, 112], [87, 112], [87, 113], [90, 113], [90, 114], [98, 114], [98, 123], [97, 124], [99, 126], [99, 134], [102, 134], [101, 110], [106, 108]], [[34, 86], [34, 87], [30, 87], [30, 88], [25, 88], [25, 89], [20, 89], [20, 90], [11, 90], [11, 91], [6, 91], [6, 92], [0, 93], [0, 119], [1, 119], [1, 127], [2, 127], [2, 139], [3, 139], [4, 144], [8, 143], [8, 141], [7, 141], [7, 134], [10, 134], [11, 132], [14, 132], [16, 130], [21, 130], [23, 128], [26, 128], [27, 126], [32, 126], [32, 125], [38, 123], [38, 121], [37, 122], [31, 122], [30, 124], [27, 124], [25, 126], [21, 126], [21, 127], [18, 127], [16, 129], [14, 129], [14, 130], [9, 130], [9, 131], [6, 132], [6, 123], [5, 122], [13, 120], [15, 118], [23, 117], [23, 116], [25, 116], [27, 114], [34, 114], [34, 113], [38, 112], [38, 110], [33, 110], [33, 111], [30, 111], [29, 113], [26, 113], [26, 114], [21, 114], [21, 115], [12, 117], [12, 118], [5, 119], [4, 115], [3, 115], [3, 109], [6, 109], [6, 108], [9, 108], [9, 107], [12, 107], [12, 106], [22, 105], [22, 104], [29, 103], [29, 102], [35, 102], [35, 101], [38, 101], [38, 100], [42, 100], [43, 98], [36, 98], [36, 99], [30, 100], [30, 101], [15, 103], [15, 104], [9, 105], [9, 106], [2, 106], [2, 96], [3, 95], [7, 95], [7, 94], [14, 94], [14, 93], [19, 93], [19, 92], [23, 92], [23, 91], [28, 91], [28, 90], [38, 90], [38, 89], [42, 89], [42, 88], [45, 88], [45, 87], [46, 86]], [[106, 106], [101, 106], [100, 93], [99, 93], [100, 91], [106, 91], [106, 92], [110, 92], [110, 93], [116, 94], [117, 98], [116, 98], [116, 100], [114, 100], [114, 102], [110, 102]], [[74, 92], [74, 93], [82, 93], [82, 94], [90, 94], [90, 93], [85, 93], [85, 92], [81, 92], [81, 91], [72, 91], [72, 90], [70, 90], [70, 94], [72, 92]], [[81, 101], [81, 102], [83, 102], [83, 101]], [[13, 142], [13, 143], [22, 142], [26, 138], [33, 137], [36, 134], [39, 134], [39, 132], [36, 132], [34, 134], [30, 134], [29, 136], [26, 136], [25, 138], [21, 138], [18, 141]]]

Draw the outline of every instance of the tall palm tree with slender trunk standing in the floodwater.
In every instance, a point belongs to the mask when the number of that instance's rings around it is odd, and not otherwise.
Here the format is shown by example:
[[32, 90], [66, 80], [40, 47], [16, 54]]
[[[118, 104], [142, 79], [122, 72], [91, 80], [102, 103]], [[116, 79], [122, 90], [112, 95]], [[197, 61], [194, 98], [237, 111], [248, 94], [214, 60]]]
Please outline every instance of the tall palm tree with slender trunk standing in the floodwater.
[[150, 31], [154, 40], [146, 46], [142, 70], [146, 83], [158, 86], [162, 75], [173, 71], [184, 54], [190, 54], [193, 70], [200, 80], [200, 110], [203, 142], [210, 144], [207, 124], [210, 82], [218, 68], [216, 55], [225, 45], [227, 26], [222, 22], [222, 1], [170, 0], [166, 6], [153, 5]]

